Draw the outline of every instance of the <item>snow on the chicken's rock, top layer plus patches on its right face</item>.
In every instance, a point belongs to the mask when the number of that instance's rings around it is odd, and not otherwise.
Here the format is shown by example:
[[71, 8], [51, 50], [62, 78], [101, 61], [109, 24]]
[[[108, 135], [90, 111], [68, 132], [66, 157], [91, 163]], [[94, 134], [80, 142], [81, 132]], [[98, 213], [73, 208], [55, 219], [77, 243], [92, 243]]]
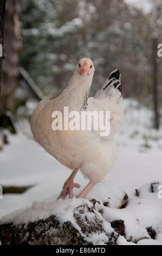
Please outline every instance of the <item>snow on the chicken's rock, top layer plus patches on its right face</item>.
[[[74, 219], [74, 209], [80, 205], [87, 204], [92, 207], [93, 204], [87, 199], [67, 199], [67, 200], [56, 200], [55, 197], [48, 198], [41, 202], [33, 202], [31, 206], [25, 207], [23, 209], [11, 212], [11, 214], [4, 216], [0, 224], [13, 223], [13, 224], [27, 224], [29, 222], [34, 222], [38, 220], [45, 220], [51, 215], [55, 215], [60, 224], [70, 221], [73, 226], [79, 230], [81, 235], [86, 238], [87, 241], [93, 242], [94, 245], [105, 245], [108, 241], [108, 236], [106, 234], [112, 234], [113, 229], [111, 224], [107, 223], [104, 218], [99, 214], [98, 211], [88, 212], [85, 208], [83, 216], [86, 216], [85, 221], [95, 221], [96, 215], [101, 221], [103, 221], [104, 231], [99, 231], [98, 233], [83, 234], [79, 225], [77, 225]], [[53, 232], [53, 229], [48, 230], [48, 232]], [[28, 237], [28, 233], [25, 235]], [[25, 238], [24, 238], [25, 239]]]

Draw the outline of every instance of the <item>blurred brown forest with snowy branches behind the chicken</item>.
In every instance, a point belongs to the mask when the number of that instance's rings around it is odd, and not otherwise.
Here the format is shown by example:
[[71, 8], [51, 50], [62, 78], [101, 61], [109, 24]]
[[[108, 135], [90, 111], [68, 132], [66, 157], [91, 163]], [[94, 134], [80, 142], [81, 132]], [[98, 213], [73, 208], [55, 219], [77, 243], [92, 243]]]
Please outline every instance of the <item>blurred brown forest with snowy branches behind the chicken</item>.
[[123, 96], [152, 109], [158, 129], [162, 10], [161, 0], [150, 2], [146, 13], [124, 0], [7, 1], [0, 126], [15, 132], [14, 123], [30, 118], [33, 103], [60, 92], [77, 61], [89, 57], [95, 65], [92, 95], [120, 69]]

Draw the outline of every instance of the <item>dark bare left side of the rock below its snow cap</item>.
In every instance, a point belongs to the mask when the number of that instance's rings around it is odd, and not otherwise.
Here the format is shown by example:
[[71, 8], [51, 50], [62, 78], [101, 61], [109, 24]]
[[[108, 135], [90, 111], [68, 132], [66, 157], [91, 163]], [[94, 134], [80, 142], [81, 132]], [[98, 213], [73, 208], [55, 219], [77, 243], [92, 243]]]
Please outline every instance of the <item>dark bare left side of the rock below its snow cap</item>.
[[55, 216], [47, 220], [30, 222], [28, 224], [0, 226], [2, 245], [72, 245], [85, 244], [86, 241], [70, 223], [64, 223], [62, 228]]

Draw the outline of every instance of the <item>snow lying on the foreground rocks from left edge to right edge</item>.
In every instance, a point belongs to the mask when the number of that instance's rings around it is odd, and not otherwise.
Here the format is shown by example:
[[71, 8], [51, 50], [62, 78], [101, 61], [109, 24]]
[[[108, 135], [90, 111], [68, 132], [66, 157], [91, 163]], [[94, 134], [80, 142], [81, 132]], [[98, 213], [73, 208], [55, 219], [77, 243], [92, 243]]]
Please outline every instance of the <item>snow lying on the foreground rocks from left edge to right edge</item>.
[[[100, 193], [103, 188], [105, 188], [105, 194], [107, 194], [106, 186], [104, 187], [102, 184], [98, 186], [98, 192]], [[141, 191], [144, 193], [140, 194]], [[121, 191], [118, 192], [120, 194]], [[139, 189], [139, 197], [135, 194], [132, 196], [129, 195], [128, 205], [125, 209], [116, 209], [104, 206], [102, 203], [104, 202], [105, 197], [102, 198], [101, 194], [101, 201], [100, 204], [96, 205], [95, 213], [88, 211], [87, 208], [82, 208], [81, 217], [85, 218], [85, 221], [89, 220], [92, 223], [95, 221], [95, 216], [97, 215], [99, 220], [103, 221], [105, 233], [99, 231], [99, 233], [88, 234], [88, 238], [86, 238], [89, 241], [93, 241], [93, 244], [95, 245], [104, 245], [107, 241], [106, 234], [111, 234], [113, 231], [110, 222], [123, 220], [125, 224], [126, 237], [120, 236], [117, 241], [118, 245], [133, 245], [135, 242], [139, 245], [162, 245], [162, 225], [160, 225], [162, 202], [157, 197], [157, 192], [158, 190], [155, 190], [154, 192], [148, 190], [147, 184], [142, 186], [141, 189]], [[114, 194], [116, 196], [118, 193], [115, 191]], [[92, 198], [93, 196], [94, 195], [92, 193]], [[107, 194], [107, 196], [109, 196], [109, 194]], [[80, 231], [80, 233], [82, 233], [81, 228], [76, 224], [74, 219], [74, 211], [80, 205], [86, 204], [89, 208], [93, 206], [88, 199], [73, 198], [67, 200], [56, 200], [55, 196], [53, 196], [40, 202], [35, 201], [31, 206], [27, 206], [23, 209], [16, 210], [5, 215], [1, 218], [0, 224], [27, 224], [38, 220], [46, 220], [49, 216], [55, 215], [57, 219], [60, 220], [61, 224], [69, 221], [77, 230]], [[98, 212], [99, 209], [102, 209], [102, 215]], [[152, 240], [150, 235], [148, 235], [147, 228], [150, 227], [156, 231], [157, 240]], [[85, 236], [84, 234], [82, 235]]]

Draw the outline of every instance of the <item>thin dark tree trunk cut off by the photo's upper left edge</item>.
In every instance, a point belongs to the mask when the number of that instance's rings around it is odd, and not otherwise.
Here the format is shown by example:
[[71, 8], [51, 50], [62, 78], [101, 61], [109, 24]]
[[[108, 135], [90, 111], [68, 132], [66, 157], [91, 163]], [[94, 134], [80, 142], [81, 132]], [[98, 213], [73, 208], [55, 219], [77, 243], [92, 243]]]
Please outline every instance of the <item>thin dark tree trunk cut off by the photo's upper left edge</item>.
[[2, 77], [2, 59], [3, 59], [3, 41], [4, 41], [4, 13], [5, 13], [5, 0], [0, 2], [0, 45], [2, 54], [0, 53], [0, 92], [1, 92], [1, 77]]

